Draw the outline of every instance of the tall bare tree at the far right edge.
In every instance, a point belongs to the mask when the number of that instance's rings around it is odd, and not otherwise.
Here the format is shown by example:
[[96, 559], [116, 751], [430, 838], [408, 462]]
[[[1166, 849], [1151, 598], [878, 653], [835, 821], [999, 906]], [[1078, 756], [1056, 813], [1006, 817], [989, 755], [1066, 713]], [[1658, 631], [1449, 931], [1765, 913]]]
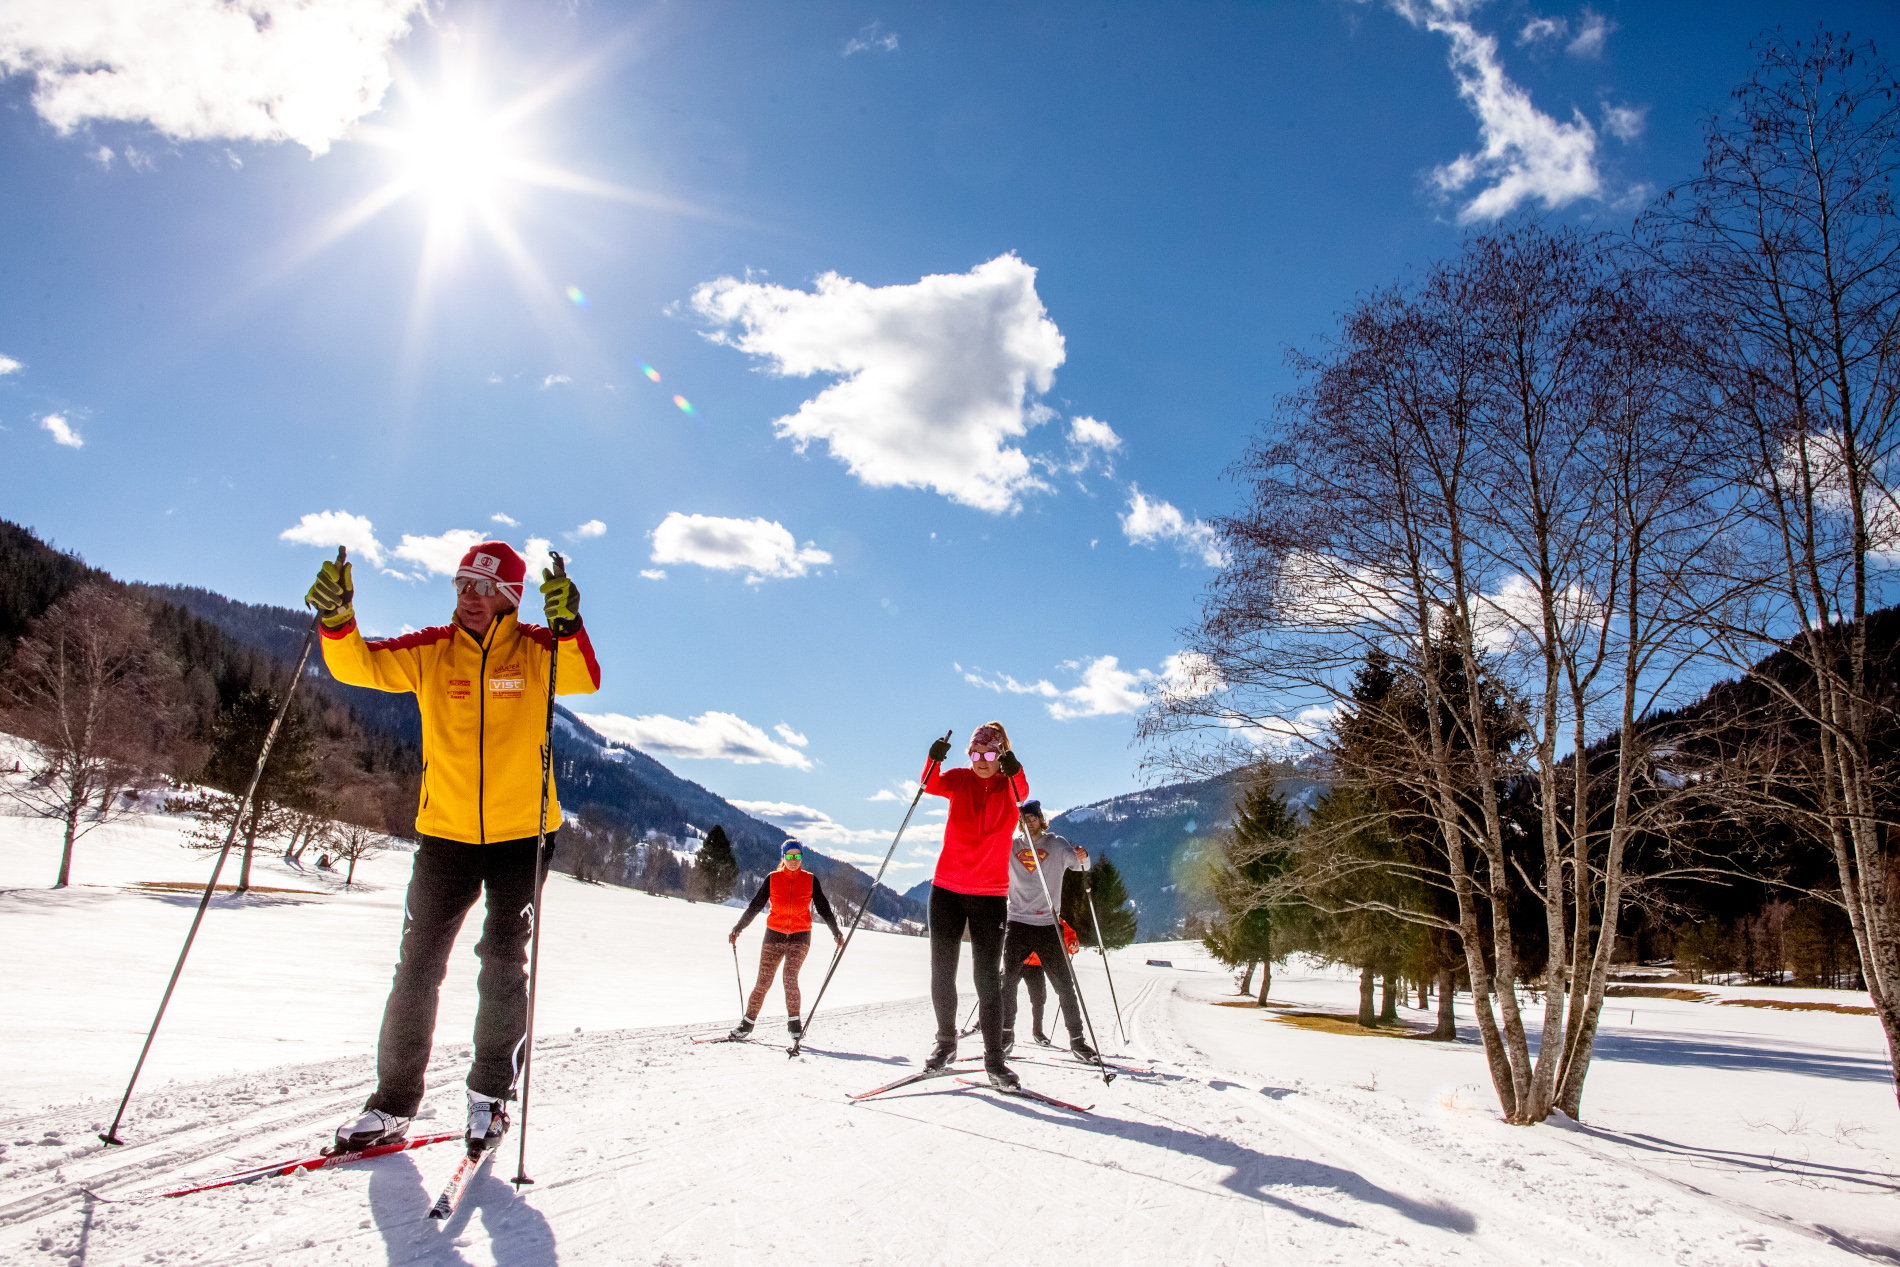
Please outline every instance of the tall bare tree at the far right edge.
[[1720, 786], [1826, 843], [1900, 1092], [1896, 716], [1868, 638], [1900, 558], [1896, 177], [1892, 66], [1824, 30], [1775, 34], [1647, 241], [1702, 312], [1714, 452], [1746, 513], [1714, 629], [1771, 703]]

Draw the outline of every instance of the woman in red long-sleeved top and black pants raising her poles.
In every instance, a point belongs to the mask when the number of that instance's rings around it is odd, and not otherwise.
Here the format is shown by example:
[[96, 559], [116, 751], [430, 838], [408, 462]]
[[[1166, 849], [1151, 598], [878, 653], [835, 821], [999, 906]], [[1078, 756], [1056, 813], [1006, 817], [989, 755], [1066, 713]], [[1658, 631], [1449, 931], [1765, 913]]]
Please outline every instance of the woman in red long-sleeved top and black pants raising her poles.
[[969, 737], [969, 769], [942, 769], [948, 741], [931, 745], [923, 790], [950, 802], [944, 849], [931, 878], [931, 1003], [937, 1007], [937, 1047], [925, 1069], [956, 1060], [956, 965], [969, 931], [971, 973], [977, 978], [977, 1018], [982, 1030], [982, 1068], [998, 1087], [1015, 1088], [1003, 1064], [1003, 925], [1009, 923], [1009, 849], [1016, 834], [1016, 804], [1030, 794], [1022, 762], [1009, 750], [1001, 722]]

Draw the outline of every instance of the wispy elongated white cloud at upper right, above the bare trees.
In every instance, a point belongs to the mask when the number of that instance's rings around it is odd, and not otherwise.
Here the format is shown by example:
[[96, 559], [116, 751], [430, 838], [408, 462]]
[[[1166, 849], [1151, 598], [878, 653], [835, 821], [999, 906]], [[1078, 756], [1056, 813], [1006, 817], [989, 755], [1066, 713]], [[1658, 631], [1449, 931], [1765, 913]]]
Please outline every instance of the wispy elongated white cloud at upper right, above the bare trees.
[[1590, 122], [1579, 110], [1569, 123], [1560, 123], [1531, 104], [1530, 93], [1505, 76], [1497, 40], [1465, 21], [1474, 8], [1471, 0], [1393, 0], [1393, 8], [1414, 27], [1452, 40], [1457, 93], [1478, 116], [1484, 148], [1433, 171], [1433, 184], [1444, 194], [1484, 182], [1459, 209], [1459, 224], [1503, 217], [1531, 199], [1556, 209], [1600, 196]]

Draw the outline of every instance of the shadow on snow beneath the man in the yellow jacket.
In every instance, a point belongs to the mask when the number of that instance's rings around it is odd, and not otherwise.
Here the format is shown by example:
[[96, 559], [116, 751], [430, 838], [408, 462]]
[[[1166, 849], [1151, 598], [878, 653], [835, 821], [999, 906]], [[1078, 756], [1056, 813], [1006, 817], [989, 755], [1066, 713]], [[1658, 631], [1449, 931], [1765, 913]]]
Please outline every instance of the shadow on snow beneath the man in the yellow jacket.
[[[456, 1206], [454, 1218], [437, 1223], [429, 1218], [429, 1206], [437, 1193], [424, 1187], [422, 1170], [414, 1157], [403, 1153], [391, 1157], [390, 1164], [380, 1164], [369, 1178], [369, 1212], [382, 1233], [384, 1252], [390, 1267], [408, 1267], [410, 1263], [431, 1263], [439, 1267], [467, 1267], [469, 1259], [458, 1242], [467, 1240], [469, 1223], [481, 1212], [481, 1237], [488, 1240], [496, 1263], [507, 1267], [555, 1267], [560, 1261], [555, 1252], [555, 1229], [547, 1218], [532, 1204], [515, 1195], [513, 1185], [498, 1176], [494, 1168], [502, 1164], [496, 1157]], [[446, 1172], [441, 1182], [446, 1182]], [[532, 1191], [532, 1189], [524, 1189]]]

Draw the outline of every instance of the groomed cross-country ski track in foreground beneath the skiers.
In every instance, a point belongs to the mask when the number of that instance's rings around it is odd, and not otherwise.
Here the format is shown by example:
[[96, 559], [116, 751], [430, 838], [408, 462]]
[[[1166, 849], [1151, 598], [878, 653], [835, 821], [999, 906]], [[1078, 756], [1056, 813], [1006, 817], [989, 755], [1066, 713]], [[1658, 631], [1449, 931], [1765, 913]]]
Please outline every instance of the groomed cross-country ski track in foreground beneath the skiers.
[[[1117, 984], [1121, 976], [1117, 976]], [[1845, 1263], [1814, 1233], [1649, 1176], [1579, 1132], [1528, 1136], [1474, 1107], [1224, 1071], [1191, 1043], [1172, 973], [1130, 974], [1130, 1041], [1155, 1075], [1104, 1087], [1024, 1062], [1079, 1117], [914, 1069], [923, 999], [838, 1009], [800, 1060], [705, 1026], [553, 1035], [536, 1050], [534, 1187], [509, 1138], [456, 1216], [428, 1220], [458, 1161], [422, 1149], [139, 1206], [86, 1199], [180, 1183], [321, 1144], [369, 1085], [363, 1058], [135, 1100], [125, 1149], [48, 1149], [0, 1172], [0, 1263]], [[441, 1047], [431, 1104], [460, 1102]], [[104, 1106], [110, 1107], [110, 1106]], [[4, 1123], [89, 1140], [99, 1104]], [[190, 1121], [177, 1128], [179, 1119]], [[443, 1128], [443, 1119], [418, 1121]]]

